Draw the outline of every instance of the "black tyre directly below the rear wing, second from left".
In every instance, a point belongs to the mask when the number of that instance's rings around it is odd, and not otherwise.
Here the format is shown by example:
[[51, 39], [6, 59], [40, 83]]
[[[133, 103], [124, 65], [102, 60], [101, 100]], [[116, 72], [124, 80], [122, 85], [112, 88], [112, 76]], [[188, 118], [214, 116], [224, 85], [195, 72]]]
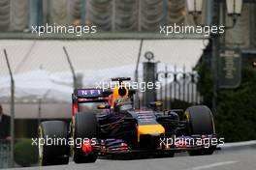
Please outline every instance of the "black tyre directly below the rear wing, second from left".
[[[93, 113], [77, 113], [74, 126], [74, 140], [81, 141], [80, 144], [75, 144], [73, 149], [73, 158], [76, 163], [92, 163], [95, 162], [98, 153], [90, 151], [84, 153], [82, 150], [83, 139], [97, 138], [97, 120]], [[78, 140], [79, 139], [79, 140]]]

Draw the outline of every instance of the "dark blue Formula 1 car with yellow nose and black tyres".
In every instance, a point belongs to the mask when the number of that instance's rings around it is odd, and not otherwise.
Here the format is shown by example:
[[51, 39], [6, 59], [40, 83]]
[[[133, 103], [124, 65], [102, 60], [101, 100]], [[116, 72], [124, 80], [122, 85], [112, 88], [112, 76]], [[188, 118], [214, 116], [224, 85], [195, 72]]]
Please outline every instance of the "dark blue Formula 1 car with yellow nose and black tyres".
[[[70, 156], [76, 163], [87, 163], [118, 154], [174, 156], [187, 151], [190, 156], [202, 156], [214, 152], [217, 139], [207, 106], [161, 111], [156, 108], [162, 103], [153, 101], [152, 108], [135, 108], [136, 91], [124, 85], [126, 80], [130, 78], [112, 79], [119, 83], [108, 90], [76, 89], [70, 125], [47, 121], [39, 127], [41, 165], [67, 164]], [[96, 113], [80, 112], [82, 103], [96, 102], [100, 103]]]

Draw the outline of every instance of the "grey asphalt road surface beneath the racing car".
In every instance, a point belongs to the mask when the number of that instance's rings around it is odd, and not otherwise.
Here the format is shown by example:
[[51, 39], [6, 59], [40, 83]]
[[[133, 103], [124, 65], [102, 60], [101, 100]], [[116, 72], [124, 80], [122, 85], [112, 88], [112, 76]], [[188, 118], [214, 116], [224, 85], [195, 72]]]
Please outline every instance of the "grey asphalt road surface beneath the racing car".
[[98, 159], [95, 163], [20, 168], [27, 170], [256, 170], [256, 147], [216, 151], [212, 156], [188, 156], [140, 159]]

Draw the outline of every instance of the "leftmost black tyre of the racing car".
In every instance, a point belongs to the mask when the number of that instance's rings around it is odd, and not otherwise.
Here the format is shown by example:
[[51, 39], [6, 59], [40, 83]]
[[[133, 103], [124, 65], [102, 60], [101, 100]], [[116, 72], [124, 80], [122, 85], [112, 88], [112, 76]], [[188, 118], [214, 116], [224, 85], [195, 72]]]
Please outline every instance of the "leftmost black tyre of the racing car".
[[68, 126], [62, 121], [43, 122], [38, 129], [41, 166], [69, 163]]

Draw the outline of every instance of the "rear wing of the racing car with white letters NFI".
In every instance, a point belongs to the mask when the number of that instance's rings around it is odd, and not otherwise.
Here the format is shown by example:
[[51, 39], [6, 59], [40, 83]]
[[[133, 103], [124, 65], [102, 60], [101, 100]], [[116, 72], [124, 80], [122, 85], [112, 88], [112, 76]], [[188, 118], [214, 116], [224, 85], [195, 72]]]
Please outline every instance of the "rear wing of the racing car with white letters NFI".
[[108, 95], [103, 93], [103, 89], [88, 88], [88, 89], [76, 89], [72, 95], [73, 102], [106, 102], [109, 99]]

